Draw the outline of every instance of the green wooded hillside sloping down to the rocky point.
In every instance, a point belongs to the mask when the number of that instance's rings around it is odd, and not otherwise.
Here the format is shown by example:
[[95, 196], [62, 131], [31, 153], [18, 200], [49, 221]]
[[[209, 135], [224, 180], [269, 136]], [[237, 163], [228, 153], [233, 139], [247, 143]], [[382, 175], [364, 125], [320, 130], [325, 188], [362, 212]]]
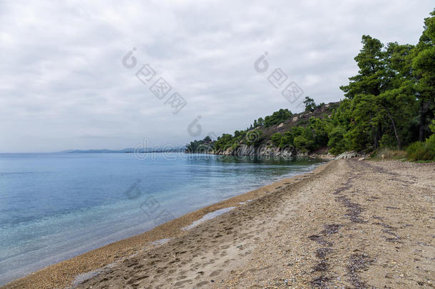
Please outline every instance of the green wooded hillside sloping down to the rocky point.
[[[344, 98], [337, 107], [287, 130], [265, 133], [294, 115], [288, 109], [258, 118], [250, 128], [224, 133], [217, 140], [192, 141], [188, 152], [217, 153], [238, 146], [260, 145], [312, 152], [328, 148], [370, 153], [380, 148], [405, 150], [410, 160], [435, 161], [435, 9], [424, 19], [416, 45], [383, 44], [362, 36], [362, 49], [355, 56], [359, 71], [341, 86]], [[305, 112], [326, 106], [305, 98]]]

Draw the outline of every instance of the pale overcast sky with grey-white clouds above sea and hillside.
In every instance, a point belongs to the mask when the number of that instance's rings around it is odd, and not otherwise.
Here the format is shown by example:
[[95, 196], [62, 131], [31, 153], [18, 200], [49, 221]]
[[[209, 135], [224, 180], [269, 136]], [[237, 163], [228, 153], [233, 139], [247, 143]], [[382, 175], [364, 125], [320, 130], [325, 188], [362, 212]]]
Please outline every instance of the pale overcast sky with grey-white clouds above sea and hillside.
[[434, 9], [299, 2], [0, 0], [0, 153], [179, 146], [339, 101], [363, 34], [416, 44]]

